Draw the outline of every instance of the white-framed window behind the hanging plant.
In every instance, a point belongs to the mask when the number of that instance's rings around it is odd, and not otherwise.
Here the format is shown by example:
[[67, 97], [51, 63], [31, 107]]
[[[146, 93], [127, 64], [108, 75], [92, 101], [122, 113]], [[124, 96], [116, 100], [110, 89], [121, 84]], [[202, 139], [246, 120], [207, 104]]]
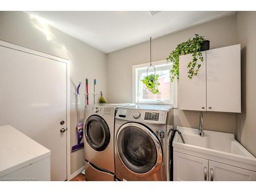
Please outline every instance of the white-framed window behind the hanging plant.
[[133, 66], [134, 102], [173, 104], [177, 106], [177, 80], [174, 82], [170, 81], [172, 63], [166, 63], [166, 61], [152, 63], [156, 68], [156, 74], [159, 75], [158, 81], [160, 86], [158, 86], [159, 93], [157, 94], [152, 94], [141, 81], [146, 75], [154, 74], [154, 68], [149, 68], [146, 73], [149, 65], [149, 63], [145, 63]]

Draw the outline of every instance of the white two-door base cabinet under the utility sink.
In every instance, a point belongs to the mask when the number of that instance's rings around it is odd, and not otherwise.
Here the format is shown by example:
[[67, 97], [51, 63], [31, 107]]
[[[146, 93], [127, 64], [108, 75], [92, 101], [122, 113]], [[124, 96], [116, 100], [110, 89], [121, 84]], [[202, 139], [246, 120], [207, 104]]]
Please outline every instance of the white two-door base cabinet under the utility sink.
[[174, 181], [256, 181], [256, 172], [174, 152]]

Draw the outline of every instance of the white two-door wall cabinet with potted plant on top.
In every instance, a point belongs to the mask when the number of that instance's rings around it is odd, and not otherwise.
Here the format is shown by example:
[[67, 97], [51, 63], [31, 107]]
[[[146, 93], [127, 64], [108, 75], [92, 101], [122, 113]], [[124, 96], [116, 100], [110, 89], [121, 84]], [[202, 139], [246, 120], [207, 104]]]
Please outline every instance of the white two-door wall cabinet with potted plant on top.
[[241, 112], [240, 45], [203, 51], [197, 76], [189, 79], [192, 54], [180, 56], [179, 109]]

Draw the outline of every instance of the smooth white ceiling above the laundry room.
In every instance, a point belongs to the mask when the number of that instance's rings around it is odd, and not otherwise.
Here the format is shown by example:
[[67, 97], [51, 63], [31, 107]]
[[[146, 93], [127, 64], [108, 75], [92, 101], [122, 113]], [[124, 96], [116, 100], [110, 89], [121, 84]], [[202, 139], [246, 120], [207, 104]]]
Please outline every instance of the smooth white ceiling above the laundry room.
[[233, 11], [36, 11], [27, 12], [86, 44], [110, 53], [224, 17]]

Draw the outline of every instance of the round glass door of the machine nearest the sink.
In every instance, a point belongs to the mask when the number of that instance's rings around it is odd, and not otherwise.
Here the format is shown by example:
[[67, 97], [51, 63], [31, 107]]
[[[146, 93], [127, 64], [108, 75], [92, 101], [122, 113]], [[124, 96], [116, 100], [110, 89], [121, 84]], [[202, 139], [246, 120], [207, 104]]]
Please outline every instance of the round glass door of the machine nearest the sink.
[[123, 124], [117, 132], [117, 153], [131, 172], [151, 175], [162, 163], [162, 148], [156, 135], [139, 123]]

